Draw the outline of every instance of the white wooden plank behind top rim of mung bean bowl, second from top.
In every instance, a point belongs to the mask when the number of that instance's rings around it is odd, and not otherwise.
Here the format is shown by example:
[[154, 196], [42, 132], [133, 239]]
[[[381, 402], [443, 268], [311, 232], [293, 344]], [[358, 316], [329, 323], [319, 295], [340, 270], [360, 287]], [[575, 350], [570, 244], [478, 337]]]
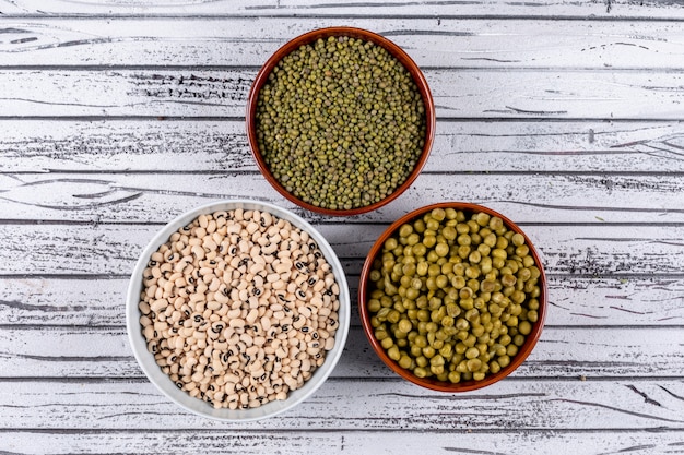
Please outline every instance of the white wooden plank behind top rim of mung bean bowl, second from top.
[[[252, 65], [338, 17], [78, 19], [4, 21], [2, 65]], [[681, 68], [680, 22], [356, 19], [421, 68]], [[621, 51], [623, 50], [623, 51]]]

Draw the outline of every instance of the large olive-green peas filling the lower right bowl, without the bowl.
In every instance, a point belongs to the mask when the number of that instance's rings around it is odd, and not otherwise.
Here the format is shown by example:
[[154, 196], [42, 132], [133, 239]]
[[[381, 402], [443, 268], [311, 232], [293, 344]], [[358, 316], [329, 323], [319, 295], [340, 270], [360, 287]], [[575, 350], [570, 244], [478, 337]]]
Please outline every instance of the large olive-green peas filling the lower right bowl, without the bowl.
[[[462, 215], [425, 215], [422, 232], [398, 237], [403, 247], [374, 261], [384, 271], [368, 303], [377, 310], [372, 325], [386, 339], [380, 343], [411, 371], [438, 381], [479, 381], [500, 371], [539, 319], [541, 271], [529, 254], [518, 254], [524, 241], [517, 244], [520, 238], [496, 217]], [[416, 256], [416, 248], [425, 255]]]

